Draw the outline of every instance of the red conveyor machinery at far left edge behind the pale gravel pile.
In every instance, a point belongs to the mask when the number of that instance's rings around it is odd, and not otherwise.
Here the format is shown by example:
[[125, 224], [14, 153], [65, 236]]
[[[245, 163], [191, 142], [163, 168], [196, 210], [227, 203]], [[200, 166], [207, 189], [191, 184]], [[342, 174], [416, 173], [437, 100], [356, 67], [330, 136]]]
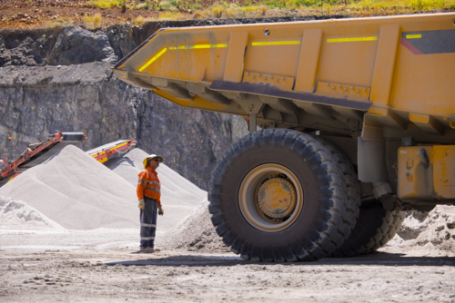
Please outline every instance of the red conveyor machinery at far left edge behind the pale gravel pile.
[[17, 159], [0, 160], [0, 187], [15, 179], [21, 172], [49, 159], [68, 144], [86, 141], [85, 132], [57, 132], [50, 134], [45, 142], [30, 144]]

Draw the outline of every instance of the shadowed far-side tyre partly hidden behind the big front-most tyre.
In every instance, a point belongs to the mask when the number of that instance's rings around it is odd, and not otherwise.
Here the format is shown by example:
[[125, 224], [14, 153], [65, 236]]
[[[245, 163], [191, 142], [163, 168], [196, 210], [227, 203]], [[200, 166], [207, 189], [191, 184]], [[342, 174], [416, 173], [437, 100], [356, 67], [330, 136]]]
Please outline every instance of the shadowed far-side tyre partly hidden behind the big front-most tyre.
[[379, 200], [363, 203], [349, 239], [335, 250], [332, 257], [352, 257], [381, 248], [396, 235], [403, 220], [401, 211], [384, 210]]

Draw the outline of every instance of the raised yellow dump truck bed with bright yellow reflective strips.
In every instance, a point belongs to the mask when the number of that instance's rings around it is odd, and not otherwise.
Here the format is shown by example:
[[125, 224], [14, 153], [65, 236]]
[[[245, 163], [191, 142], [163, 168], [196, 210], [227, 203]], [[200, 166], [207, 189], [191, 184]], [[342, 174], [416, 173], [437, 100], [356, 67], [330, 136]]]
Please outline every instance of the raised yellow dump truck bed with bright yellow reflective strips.
[[455, 14], [166, 28], [113, 68], [181, 106], [268, 127], [444, 134], [455, 120]]

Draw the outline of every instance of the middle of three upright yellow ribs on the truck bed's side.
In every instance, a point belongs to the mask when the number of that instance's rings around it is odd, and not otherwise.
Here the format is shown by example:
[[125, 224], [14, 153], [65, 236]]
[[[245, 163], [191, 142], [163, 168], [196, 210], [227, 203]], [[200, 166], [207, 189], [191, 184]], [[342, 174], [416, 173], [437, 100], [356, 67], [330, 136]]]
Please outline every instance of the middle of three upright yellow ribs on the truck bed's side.
[[318, 74], [322, 29], [311, 28], [303, 32], [302, 47], [298, 58], [296, 91], [312, 93]]

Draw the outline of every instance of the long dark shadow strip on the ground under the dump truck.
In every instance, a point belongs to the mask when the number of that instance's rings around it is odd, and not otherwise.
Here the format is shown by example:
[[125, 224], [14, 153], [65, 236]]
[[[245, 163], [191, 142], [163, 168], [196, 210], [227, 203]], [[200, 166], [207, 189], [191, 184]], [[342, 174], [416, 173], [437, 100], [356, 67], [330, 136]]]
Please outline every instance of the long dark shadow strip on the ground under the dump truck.
[[115, 266], [163, 266], [163, 267], [229, 267], [236, 265], [284, 265], [284, 266], [315, 266], [315, 265], [374, 265], [374, 266], [455, 266], [455, 257], [410, 257], [400, 253], [375, 252], [350, 258], [325, 258], [310, 262], [255, 262], [244, 260], [236, 255], [178, 255], [160, 258], [160, 253], [152, 254], [149, 259], [136, 259], [108, 262], [106, 265]]

